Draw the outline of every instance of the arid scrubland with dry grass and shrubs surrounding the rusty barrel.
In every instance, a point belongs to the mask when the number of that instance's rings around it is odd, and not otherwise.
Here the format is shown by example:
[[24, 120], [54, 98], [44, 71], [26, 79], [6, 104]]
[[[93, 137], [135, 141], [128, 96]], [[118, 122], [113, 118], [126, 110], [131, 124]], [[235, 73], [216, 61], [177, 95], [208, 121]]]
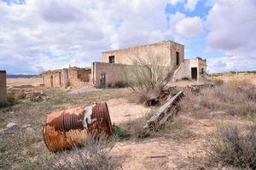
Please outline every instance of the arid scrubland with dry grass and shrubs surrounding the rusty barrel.
[[[127, 88], [75, 95], [54, 89], [45, 91], [50, 97], [46, 101], [19, 100], [0, 110], [0, 169], [255, 169], [255, 85], [215, 83], [198, 93], [184, 88], [179, 115], [155, 131], [143, 126], [158, 107], [139, 118], [129, 111], [139, 113], [143, 107], [116, 108], [124, 106], [114, 103], [116, 98], [135, 107], [137, 95]], [[42, 123], [47, 113], [109, 99], [110, 114], [118, 111], [113, 116], [124, 119], [114, 125], [114, 141], [92, 140], [83, 148], [60, 153], [46, 149]], [[3, 130], [9, 122], [17, 126]]]

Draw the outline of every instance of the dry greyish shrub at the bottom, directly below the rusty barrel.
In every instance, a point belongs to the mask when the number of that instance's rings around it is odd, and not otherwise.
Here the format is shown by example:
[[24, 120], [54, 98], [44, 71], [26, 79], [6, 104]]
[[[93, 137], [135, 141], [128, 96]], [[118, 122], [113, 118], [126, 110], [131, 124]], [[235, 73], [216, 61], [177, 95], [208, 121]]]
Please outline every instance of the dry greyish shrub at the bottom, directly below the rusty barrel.
[[121, 161], [109, 156], [114, 142], [107, 139], [90, 139], [83, 148], [52, 153], [38, 161], [38, 169], [80, 169], [80, 170], [114, 170], [122, 169]]

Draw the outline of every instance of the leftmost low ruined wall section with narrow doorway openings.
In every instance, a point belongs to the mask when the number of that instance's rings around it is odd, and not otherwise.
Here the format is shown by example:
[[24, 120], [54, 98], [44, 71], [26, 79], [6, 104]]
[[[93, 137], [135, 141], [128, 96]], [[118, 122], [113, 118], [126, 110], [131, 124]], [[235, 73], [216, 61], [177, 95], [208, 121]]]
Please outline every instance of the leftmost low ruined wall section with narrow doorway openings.
[[63, 86], [62, 70], [44, 71], [42, 80], [47, 88], [61, 88]]

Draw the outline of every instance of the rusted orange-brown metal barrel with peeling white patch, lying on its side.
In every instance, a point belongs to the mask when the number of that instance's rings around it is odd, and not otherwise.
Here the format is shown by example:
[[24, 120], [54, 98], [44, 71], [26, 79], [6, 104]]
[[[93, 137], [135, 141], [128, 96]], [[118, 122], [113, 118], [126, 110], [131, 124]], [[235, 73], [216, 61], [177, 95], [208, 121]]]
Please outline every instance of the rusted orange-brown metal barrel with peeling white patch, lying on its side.
[[50, 151], [79, 146], [90, 136], [112, 133], [107, 103], [49, 113], [43, 128], [44, 143]]

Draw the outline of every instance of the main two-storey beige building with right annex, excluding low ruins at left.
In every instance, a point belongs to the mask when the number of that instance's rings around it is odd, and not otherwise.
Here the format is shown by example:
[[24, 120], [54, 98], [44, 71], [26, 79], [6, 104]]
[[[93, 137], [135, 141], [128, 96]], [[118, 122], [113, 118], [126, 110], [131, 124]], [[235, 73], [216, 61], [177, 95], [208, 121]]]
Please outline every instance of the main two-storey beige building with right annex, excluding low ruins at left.
[[125, 68], [133, 65], [137, 59], [148, 57], [157, 57], [158, 65], [169, 67], [173, 81], [183, 78], [199, 81], [207, 71], [206, 59], [184, 59], [184, 45], [163, 41], [103, 52], [102, 62], [94, 62], [92, 65], [93, 83], [96, 88], [108, 88], [115, 82], [125, 81]]

